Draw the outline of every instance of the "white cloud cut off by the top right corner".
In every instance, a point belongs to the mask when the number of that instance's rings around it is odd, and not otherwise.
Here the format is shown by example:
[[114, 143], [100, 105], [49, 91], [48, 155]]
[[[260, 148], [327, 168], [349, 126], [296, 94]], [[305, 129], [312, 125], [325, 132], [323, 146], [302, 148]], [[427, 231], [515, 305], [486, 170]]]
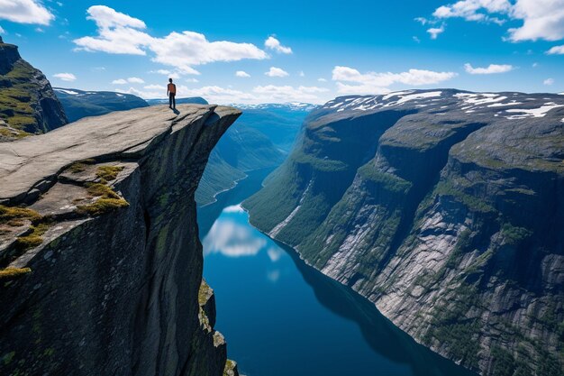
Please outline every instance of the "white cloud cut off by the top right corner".
[[564, 39], [564, 0], [460, 0], [442, 5], [436, 19], [459, 17], [466, 21], [504, 24], [521, 21], [507, 30], [507, 41], [559, 41]]

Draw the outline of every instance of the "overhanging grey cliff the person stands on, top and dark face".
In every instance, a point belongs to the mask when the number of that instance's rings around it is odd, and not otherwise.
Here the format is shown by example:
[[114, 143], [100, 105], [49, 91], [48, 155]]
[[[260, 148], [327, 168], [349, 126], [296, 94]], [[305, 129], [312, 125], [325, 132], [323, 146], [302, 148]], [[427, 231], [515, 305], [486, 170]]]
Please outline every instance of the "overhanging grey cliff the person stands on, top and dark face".
[[0, 144], [0, 374], [222, 375], [194, 192], [241, 114], [164, 106]]

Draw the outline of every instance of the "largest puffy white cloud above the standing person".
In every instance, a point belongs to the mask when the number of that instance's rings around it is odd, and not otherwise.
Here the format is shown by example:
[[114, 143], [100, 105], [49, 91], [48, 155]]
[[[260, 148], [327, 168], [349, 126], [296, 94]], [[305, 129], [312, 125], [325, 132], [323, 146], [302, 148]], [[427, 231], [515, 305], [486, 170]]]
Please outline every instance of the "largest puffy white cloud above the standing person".
[[163, 38], [153, 37], [145, 32], [147, 26], [143, 21], [105, 5], [91, 6], [87, 13], [87, 18], [96, 23], [98, 35], [76, 39], [77, 50], [132, 55], [151, 52], [151, 60], [175, 67], [181, 74], [199, 74], [193, 66], [215, 61], [268, 58], [254, 44], [207, 41], [198, 32], [171, 32]]

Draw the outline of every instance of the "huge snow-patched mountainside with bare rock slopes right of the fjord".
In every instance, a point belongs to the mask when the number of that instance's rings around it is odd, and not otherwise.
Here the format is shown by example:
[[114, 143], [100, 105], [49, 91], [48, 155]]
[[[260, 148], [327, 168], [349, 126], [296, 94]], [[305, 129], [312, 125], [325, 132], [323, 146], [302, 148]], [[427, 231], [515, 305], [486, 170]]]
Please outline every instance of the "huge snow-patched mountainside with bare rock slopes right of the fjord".
[[244, 206], [436, 352], [561, 375], [563, 151], [564, 96], [341, 97]]

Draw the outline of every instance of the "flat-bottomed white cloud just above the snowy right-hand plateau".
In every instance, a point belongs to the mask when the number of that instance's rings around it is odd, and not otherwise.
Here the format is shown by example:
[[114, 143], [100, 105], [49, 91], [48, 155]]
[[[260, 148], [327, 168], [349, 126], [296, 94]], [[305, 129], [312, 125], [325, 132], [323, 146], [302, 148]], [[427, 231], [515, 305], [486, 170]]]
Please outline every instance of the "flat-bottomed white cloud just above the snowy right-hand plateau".
[[[432, 70], [409, 69], [402, 73], [376, 73], [362, 74], [357, 69], [349, 67], [335, 67], [332, 70], [332, 79], [337, 82], [341, 94], [382, 94], [390, 91], [393, 84], [409, 86], [432, 85], [455, 78], [454, 72], [435, 72]], [[343, 84], [347, 82], [349, 84]], [[350, 85], [354, 83], [355, 85]]]

